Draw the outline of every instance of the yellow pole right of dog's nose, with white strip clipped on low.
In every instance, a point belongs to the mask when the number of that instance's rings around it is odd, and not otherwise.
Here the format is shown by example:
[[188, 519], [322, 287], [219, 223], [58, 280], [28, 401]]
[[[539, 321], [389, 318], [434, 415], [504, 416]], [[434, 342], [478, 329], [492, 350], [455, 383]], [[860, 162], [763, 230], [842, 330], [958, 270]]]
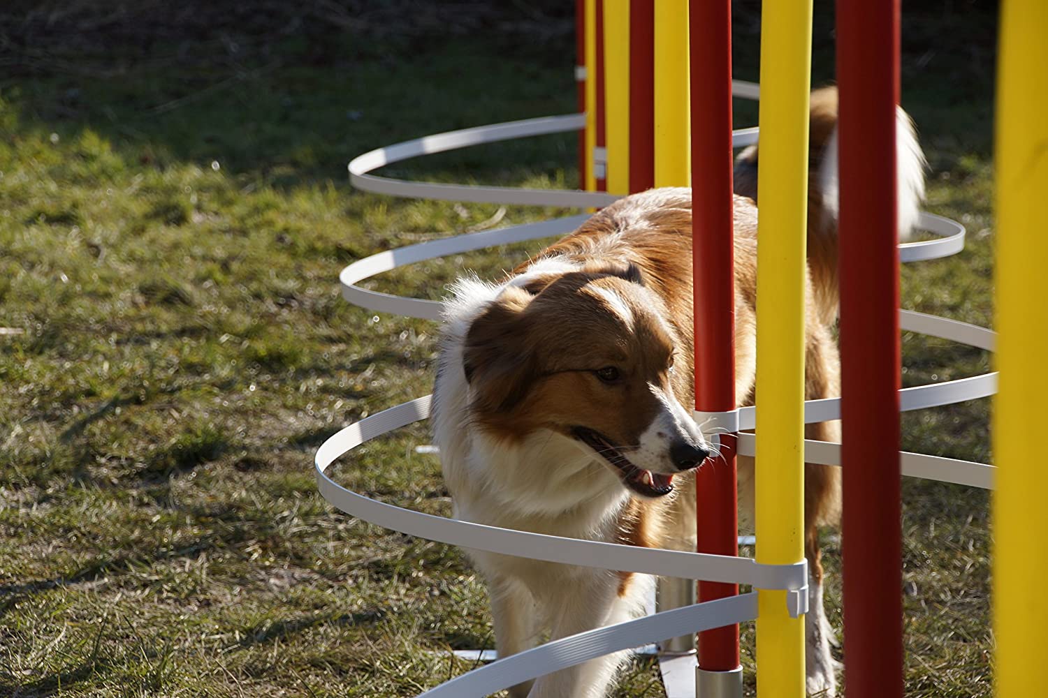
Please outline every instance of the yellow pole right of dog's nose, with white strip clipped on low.
[[[757, 561], [804, 559], [804, 284], [811, 0], [764, 0], [757, 246]], [[759, 590], [760, 696], [804, 698], [804, 617]]]

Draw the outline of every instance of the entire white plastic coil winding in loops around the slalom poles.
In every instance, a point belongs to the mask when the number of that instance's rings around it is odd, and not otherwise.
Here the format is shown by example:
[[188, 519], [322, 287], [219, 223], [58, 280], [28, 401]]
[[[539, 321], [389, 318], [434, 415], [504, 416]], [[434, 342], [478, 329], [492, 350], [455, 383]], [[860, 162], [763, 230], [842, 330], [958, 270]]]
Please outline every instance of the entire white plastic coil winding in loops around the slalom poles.
[[[739, 81], [735, 81], [733, 85], [737, 96], [757, 98], [757, 85]], [[369, 174], [384, 165], [420, 155], [512, 138], [577, 131], [584, 123], [584, 115], [569, 114], [425, 136], [380, 148], [354, 158], [349, 163], [350, 181], [359, 189], [410, 198], [577, 208], [607, 206], [618, 197], [596, 192], [411, 182]], [[734, 143], [737, 148], [747, 145], [756, 142], [757, 136], [757, 129], [739, 130], [734, 133]], [[342, 294], [349, 302], [372, 311], [439, 320], [441, 303], [438, 301], [379, 293], [362, 288], [359, 284], [376, 274], [427, 260], [562, 235], [577, 228], [587, 218], [588, 215], [559, 218], [499, 230], [456, 235], [380, 252], [359, 260], [342, 270], [340, 273]], [[900, 245], [902, 262], [947, 256], [956, 254], [964, 247], [964, 228], [954, 221], [921, 212], [918, 227], [934, 233], [937, 239]], [[900, 311], [900, 323], [904, 331], [994, 351], [996, 335], [984, 328], [904, 310]], [[984, 398], [996, 391], [997, 374], [985, 374], [905, 388], [900, 391], [899, 397], [901, 409], [905, 411]], [[355, 447], [427, 419], [430, 400], [431, 396], [425, 396], [384, 410], [347, 426], [325, 441], [316, 451], [314, 459], [318, 486], [324, 498], [336, 509], [352, 516], [429, 540], [549, 562], [663, 577], [734, 582], [749, 584], [755, 589], [785, 589], [788, 592], [787, 604], [791, 614], [796, 615], [807, 611], [805, 561], [792, 565], [765, 565], [749, 558], [640, 548], [456, 521], [370, 499], [340, 486], [327, 474], [332, 463]], [[755, 409], [745, 407], [729, 412], [696, 412], [695, 415], [700, 423], [705, 422], [705, 428], [711, 431], [718, 427], [738, 431], [754, 428]], [[805, 422], [836, 420], [839, 419], [839, 410], [838, 398], [807, 401]], [[738, 452], [742, 455], [754, 455], [754, 434], [740, 433]], [[839, 450], [838, 444], [805, 441], [805, 459], [809, 463], [839, 466]], [[900, 458], [904, 475], [983, 489], [992, 488], [994, 468], [986, 464], [905, 452], [900, 453]], [[664, 611], [590, 630], [501, 658], [493, 665], [475, 669], [442, 683], [422, 694], [422, 697], [484, 696], [611, 652], [749, 621], [756, 616], [757, 598], [752, 592]]]

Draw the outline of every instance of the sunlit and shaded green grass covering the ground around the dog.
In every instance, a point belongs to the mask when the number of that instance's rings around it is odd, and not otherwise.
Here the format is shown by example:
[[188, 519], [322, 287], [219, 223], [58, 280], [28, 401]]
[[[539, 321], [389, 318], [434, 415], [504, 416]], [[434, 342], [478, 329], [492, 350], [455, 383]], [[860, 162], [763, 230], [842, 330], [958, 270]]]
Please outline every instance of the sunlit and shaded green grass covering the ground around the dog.
[[[0, 694], [403, 696], [468, 669], [444, 650], [493, 646], [461, 553], [332, 512], [311, 457], [433, 378], [436, 328], [349, 307], [339, 270], [498, 207], [355, 192], [345, 162], [571, 111], [570, 17], [462, 3], [449, 24], [429, 5], [410, 19], [379, 5], [3, 10], [0, 325], [21, 334], [0, 335]], [[988, 324], [995, 20], [982, 5], [904, 16], [927, 208], [962, 221], [969, 242], [908, 267], [902, 293], [905, 307]], [[757, 3], [735, 12], [737, 74], [754, 78]], [[816, 13], [816, 83], [832, 75], [831, 22]], [[574, 152], [549, 136], [387, 172], [572, 186]], [[502, 224], [559, 212], [508, 207]], [[461, 268], [495, 275], [528, 249], [375, 285], [435, 298]], [[908, 385], [988, 367], [939, 340], [905, 336], [903, 350]], [[907, 414], [903, 447], [987, 460], [987, 410]], [[427, 442], [424, 425], [403, 429], [337, 476], [447, 514], [437, 461], [413, 449]], [[988, 696], [988, 497], [908, 480], [904, 504], [908, 693]], [[827, 547], [836, 571], [829, 533]], [[638, 661], [619, 695], [659, 691]]]

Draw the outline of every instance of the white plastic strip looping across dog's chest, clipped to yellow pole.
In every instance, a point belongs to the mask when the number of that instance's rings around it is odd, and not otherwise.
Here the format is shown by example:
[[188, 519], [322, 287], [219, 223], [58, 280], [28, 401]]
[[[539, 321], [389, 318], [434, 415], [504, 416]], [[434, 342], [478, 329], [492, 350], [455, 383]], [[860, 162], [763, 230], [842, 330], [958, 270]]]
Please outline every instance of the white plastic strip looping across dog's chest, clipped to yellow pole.
[[[369, 499], [343, 488], [327, 476], [325, 471], [328, 466], [349, 450], [425, 419], [430, 412], [430, 400], [431, 396], [425, 396], [383, 410], [349, 425], [325, 441], [316, 451], [314, 464], [321, 495], [339, 510], [365, 521], [461, 547], [601, 569], [711, 582], [737, 582], [751, 584], [760, 589], [796, 590], [807, 584], [807, 563], [803, 561], [792, 565], [762, 565], [749, 558], [559, 538], [456, 521]], [[669, 634], [659, 639], [673, 636], [675, 635]]]

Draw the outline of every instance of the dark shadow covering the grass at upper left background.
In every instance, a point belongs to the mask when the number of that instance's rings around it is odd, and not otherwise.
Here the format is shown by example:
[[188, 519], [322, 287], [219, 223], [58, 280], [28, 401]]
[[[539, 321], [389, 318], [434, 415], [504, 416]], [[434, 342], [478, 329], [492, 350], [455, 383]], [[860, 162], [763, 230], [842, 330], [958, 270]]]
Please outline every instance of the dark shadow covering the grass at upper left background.
[[[570, 111], [573, 7], [529, 5], [15, 3], [0, 10], [7, 69], [0, 88], [21, 112], [19, 130], [63, 140], [92, 131], [129, 166], [194, 162], [277, 186], [345, 181], [351, 157], [394, 140], [475, 126], [493, 112]], [[485, 39], [456, 41], [465, 35]], [[537, 66], [563, 65], [563, 80], [536, 70], [520, 90], [519, 66], [475, 69], [504, 51], [526, 52]], [[449, 98], [449, 82], [468, 97]], [[554, 148], [546, 159], [558, 155]], [[189, 221], [178, 202], [158, 206], [158, 220]], [[74, 224], [78, 213], [40, 216]]]

